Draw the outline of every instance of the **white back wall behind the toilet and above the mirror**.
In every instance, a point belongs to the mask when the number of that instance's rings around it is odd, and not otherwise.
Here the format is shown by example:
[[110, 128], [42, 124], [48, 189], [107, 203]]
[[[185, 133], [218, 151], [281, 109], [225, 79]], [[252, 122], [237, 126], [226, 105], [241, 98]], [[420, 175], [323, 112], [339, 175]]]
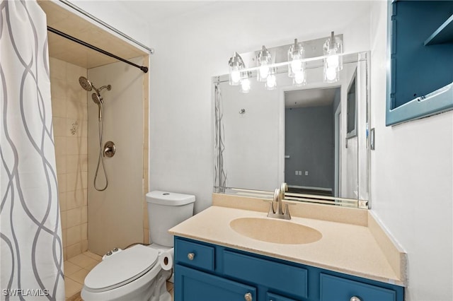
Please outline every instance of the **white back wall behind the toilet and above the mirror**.
[[[211, 78], [227, 73], [234, 51], [286, 45], [343, 33], [345, 51], [369, 49], [364, 2], [215, 2], [150, 28], [150, 189], [195, 194], [195, 211], [211, 204]], [[327, 16], [325, 20], [321, 17]]]

